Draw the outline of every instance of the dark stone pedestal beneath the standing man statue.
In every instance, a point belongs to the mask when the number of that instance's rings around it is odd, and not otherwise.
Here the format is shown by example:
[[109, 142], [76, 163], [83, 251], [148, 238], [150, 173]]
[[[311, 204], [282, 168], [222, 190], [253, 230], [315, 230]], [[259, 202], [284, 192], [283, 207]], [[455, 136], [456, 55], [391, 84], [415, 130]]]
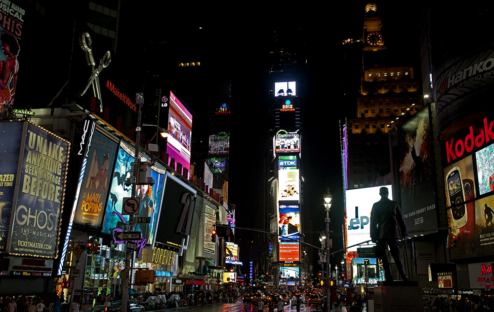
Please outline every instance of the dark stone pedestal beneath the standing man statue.
[[423, 312], [422, 288], [416, 281], [378, 281], [374, 286], [375, 312]]

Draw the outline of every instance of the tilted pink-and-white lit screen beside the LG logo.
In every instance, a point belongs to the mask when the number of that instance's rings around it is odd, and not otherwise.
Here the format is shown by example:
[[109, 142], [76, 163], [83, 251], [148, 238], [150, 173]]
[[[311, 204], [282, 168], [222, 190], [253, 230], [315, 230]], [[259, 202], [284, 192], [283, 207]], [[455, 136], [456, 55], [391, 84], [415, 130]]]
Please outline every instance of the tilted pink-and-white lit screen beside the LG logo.
[[166, 152], [175, 163], [183, 168], [190, 167], [190, 144], [192, 134], [192, 114], [170, 91], [168, 113], [168, 138]]

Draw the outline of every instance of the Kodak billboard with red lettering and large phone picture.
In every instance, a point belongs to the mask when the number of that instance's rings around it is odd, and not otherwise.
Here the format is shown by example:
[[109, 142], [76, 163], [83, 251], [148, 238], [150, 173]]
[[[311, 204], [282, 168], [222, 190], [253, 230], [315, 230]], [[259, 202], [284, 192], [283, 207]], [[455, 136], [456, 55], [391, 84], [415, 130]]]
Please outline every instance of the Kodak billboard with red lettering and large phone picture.
[[443, 143], [448, 223], [459, 236], [453, 259], [494, 255], [494, 133], [488, 116]]

